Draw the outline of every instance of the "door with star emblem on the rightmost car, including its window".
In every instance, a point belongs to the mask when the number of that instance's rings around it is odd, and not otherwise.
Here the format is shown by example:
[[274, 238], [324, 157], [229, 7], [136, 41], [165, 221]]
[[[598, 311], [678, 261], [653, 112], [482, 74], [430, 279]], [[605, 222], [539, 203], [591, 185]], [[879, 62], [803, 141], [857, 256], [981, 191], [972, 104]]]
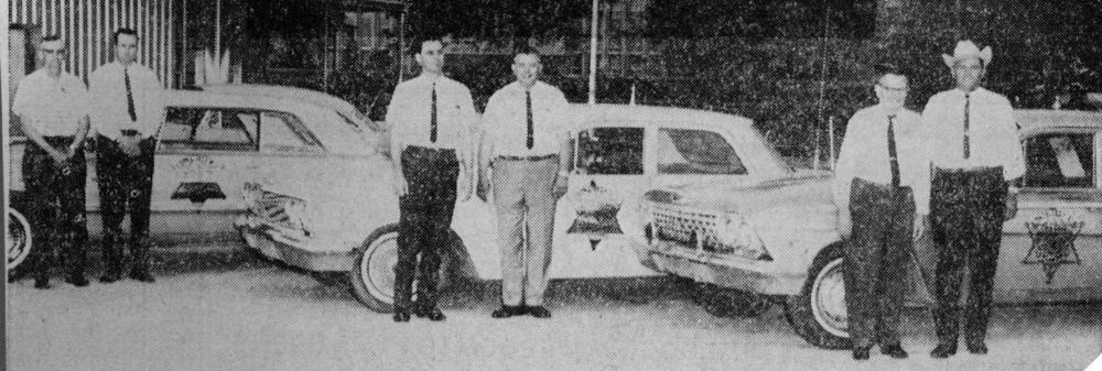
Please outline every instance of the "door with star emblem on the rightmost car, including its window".
[[1005, 302], [1102, 297], [1102, 189], [1093, 130], [1049, 131], [1025, 141], [1018, 214], [1004, 225], [995, 274]]

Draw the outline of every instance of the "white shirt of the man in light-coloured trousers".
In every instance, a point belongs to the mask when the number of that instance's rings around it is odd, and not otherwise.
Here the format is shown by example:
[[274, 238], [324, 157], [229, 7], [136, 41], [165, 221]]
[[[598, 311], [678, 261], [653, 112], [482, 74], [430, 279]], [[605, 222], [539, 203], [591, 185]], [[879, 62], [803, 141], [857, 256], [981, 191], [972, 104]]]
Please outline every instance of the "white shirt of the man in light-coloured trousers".
[[575, 118], [559, 88], [542, 81], [531, 87], [532, 148], [528, 148], [526, 89], [514, 81], [489, 97], [483, 117], [491, 156], [539, 156], [557, 154], [575, 128]]

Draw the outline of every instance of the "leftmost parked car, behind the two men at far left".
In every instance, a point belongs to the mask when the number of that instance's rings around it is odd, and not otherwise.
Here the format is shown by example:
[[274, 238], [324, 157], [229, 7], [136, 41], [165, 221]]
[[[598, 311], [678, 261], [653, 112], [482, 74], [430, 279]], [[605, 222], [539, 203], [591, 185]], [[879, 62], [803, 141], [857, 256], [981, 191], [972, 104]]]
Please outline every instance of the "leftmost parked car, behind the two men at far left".
[[[150, 237], [154, 243], [239, 241], [234, 220], [244, 212], [246, 182], [301, 177], [303, 166], [318, 159], [345, 159], [375, 153], [378, 134], [360, 118], [342, 114], [331, 96], [303, 90], [290, 95], [279, 87], [252, 87], [246, 92], [173, 90], [154, 155]], [[326, 98], [327, 97], [327, 98]], [[344, 103], [347, 106], [347, 103]], [[350, 106], [348, 106], [350, 107]], [[315, 129], [315, 128], [322, 128]], [[19, 166], [28, 140], [14, 135], [9, 176], [12, 207], [8, 212], [8, 268], [15, 269], [35, 243], [23, 217], [25, 194]], [[326, 165], [341, 162], [328, 160]], [[102, 231], [99, 218], [95, 153], [88, 156], [86, 199], [88, 231]]]

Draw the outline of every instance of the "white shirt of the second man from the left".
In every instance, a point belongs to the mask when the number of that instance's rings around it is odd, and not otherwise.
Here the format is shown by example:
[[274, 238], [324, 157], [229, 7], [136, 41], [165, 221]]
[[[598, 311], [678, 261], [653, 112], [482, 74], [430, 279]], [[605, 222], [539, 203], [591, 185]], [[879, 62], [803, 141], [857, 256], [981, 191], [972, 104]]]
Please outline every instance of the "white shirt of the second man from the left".
[[[130, 119], [127, 75], [137, 120]], [[96, 103], [91, 110], [91, 127], [100, 135], [118, 140], [122, 130], [137, 130], [143, 138], [156, 134], [164, 119], [164, 89], [153, 70], [137, 63], [122, 66], [111, 62], [96, 68], [88, 85]]]

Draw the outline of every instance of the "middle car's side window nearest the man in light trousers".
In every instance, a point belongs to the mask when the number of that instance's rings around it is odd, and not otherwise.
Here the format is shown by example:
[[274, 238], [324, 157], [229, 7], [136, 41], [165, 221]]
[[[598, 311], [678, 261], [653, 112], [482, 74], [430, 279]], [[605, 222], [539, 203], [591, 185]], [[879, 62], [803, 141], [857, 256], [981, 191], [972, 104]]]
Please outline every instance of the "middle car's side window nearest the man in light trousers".
[[577, 168], [583, 174], [642, 174], [642, 128], [595, 128], [577, 134]]

